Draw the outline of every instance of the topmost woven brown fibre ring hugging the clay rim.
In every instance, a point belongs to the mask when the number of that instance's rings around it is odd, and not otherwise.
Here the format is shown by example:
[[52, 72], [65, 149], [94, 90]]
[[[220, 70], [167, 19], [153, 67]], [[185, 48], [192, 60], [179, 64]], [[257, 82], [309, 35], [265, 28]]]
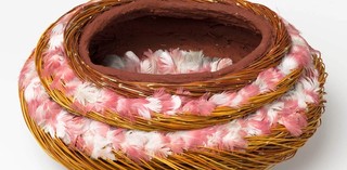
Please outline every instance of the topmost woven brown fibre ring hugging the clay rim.
[[98, 3], [97, 5], [86, 5], [82, 11], [78, 11], [76, 15], [73, 16], [73, 19], [69, 22], [69, 26], [66, 28], [65, 36], [65, 48], [67, 56], [69, 57], [70, 65], [77, 73], [77, 75], [82, 80], [91, 81], [99, 87], [108, 88], [115, 91], [117, 94], [127, 97], [149, 96], [153, 94], [155, 90], [158, 90], [160, 88], [165, 88], [168, 93], [172, 94], [177, 92], [178, 88], [184, 88], [184, 90], [191, 92], [191, 96], [201, 96], [206, 92], [210, 92], [211, 94], [214, 94], [216, 92], [220, 92], [221, 89], [228, 91], [239, 90], [249, 83], [249, 81], [255, 80], [261, 70], [277, 66], [291, 47], [291, 38], [283, 22], [277, 15], [277, 13], [274, 13], [270, 9], [256, 3], [246, 3], [244, 0], [200, 0], [198, 2], [201, 3], [235, 3], [241, 8], [250, 10], [256, 15], [264, 16], [275, 28], [274, 30], [277, 30], [274, 42], [271, 45], [272, 48], [268, 50], [264, 57], [259, 58], [242, 71], [231, 73], [218, 79], [179, 84], [136, 82], [115, 79], [92, 69], [83, 62], [81, 62], [82, 60], [80, 58], [78, 53], [78, 37], [80, 37], [80, 30], [83, 29], [83, 26], [86, 24], [94, 18], [94, 15], [107, 11], [112, 6], [121, 5], [128, 2], [131, 1], [104, 1]]

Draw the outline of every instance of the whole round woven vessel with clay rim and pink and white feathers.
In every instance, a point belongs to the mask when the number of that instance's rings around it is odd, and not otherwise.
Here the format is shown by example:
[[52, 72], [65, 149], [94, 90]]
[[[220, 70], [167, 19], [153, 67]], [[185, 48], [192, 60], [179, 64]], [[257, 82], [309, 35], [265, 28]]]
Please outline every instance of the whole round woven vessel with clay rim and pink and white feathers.
[[261, 4], [94, 0], [42, 35], [20, 99], [68, 169], [258, 170], [313, 135], [325, 78], [320, 53]]

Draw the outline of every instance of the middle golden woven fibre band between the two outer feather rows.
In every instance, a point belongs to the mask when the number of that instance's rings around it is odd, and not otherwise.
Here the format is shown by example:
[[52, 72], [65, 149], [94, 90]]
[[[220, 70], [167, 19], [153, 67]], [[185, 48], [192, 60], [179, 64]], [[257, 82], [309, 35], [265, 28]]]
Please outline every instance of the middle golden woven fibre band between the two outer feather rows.
[[[127, 1], [125, 1], [125, 2], [127, 2]], [[108, 3], [111, 3], [111, 2], [108, 2]], [[271, 12], [271, 11], [269, 11], [269, 12]], [[275, 18], [278, 18], [278, 17], [275, 17]], [[270, 91], [268, 93], [259, 94], [257, 96], [250, 97], [248, 103], [241, 105], [237, 108], [217, 107], [217, 109], [215, 109], [210, 116], [196, 116], [196, 115], [191, 115], [191, 114], [187, 113], [185, 115], [168, 117], [163, 114], [154, 114], [152, 116], [153, 117], [152, 119], [145, 119], [142, 117], [134, 117], [133, 119], [130, 120], [128, 118], [119, 116], [119, 114], [114, 113], [112, 110], [106, 110], [104, 114], [100, 114], [100, 113], [95, 113], [95, 112], [90, 112], [88, 114], [85, 114], [85, 113], [80, 113], [78, 110], [75, 110], [72, 107], [73, 99], [66, 97], [64, 92], [62, 92], [62, 91], [52, 90], [50, 88], [49, 84], [50, 84], [50, 82], [53, 81], [52, 77], [42, 78], [42, 76], [41, 76], [42, 75], [41, 74], [42, 73], [42, 55], [43, 55], [42, 52], [44, 51], [44, 48], [47, 48], [47, 44], [49, 41], [49, 36], [47, 36], [47, 35], [51, 30], [52, 26], [43, 34], [43, 36], [41, 37], [41, 41], [38, 43], [38, 47], [35, 52], [37, 70], [41, 77], [41, 82], [42, 82], [44, 89], [47, 90], [47, 92], [49, 93], [49, 95], [56, 103], [59, 103], [61, 106], [65, 107], [67, 110], [72, 112], [76, 115], [83, 115], [88, 118], [91, 118], [91, 119], [94, 119], [98, 121], [102, 121], [102, 122], [108, 123], [111, 126], [117, 126], [117, 127], [121, 127], [121, 128], [126, 128], [126, 129], [138, 129], [138, 130], [143, 130], [143, 131], [151, 131], [151, 130], [172, 131], [172, 130], [198, 129], [198, 128], [208, 127], [210, 125], [218, 125], [218, 123], [228, 122], [228, 121], [234, 120], [236, 118], [244, 117], [247, 114], [257, 110], [259, 107], [262, 106], [264, 103], [270, 103], [270, 102], [275, 101], [279, 96], [281, 96], [286, 91], [288, 91], [293, 87], [293, 84], [295, 84], [295, 82], [298, 80], [298, 78], [300, 77], [301, 71], [303, 71], [303, 69], [299, 68], [299, 69], [294, 70], [291, 75], [286, 76], [281, 82], [279, 82], [275, 91]], [[279, 23], [277, 23], [277, 26], [279, 26]], [[282, 26], [282, 27], [284, 28], [284, 26]], [[279, 39], [281, 39], [281, 35], [278, 35], [278, 36], [279, 36]], [[74, 37], [74, 36], [72, 36], [70, 34], [67, 34], [66, 37], [68, 38], [68, 37]], [[285, 38], [282, 38], [281, 40], [284, 43]], [[280, 49], [280, 45], [278, 48], [279, 48], [279, 49], [277, 49], [278, 51], [279, 50], [281, 50], [282, 52], [286, 51], [286, 48]], [[67, 50], [67, 51], [70, 52], [69, 50]], [[277, 53], [278, 51], [274, 50], [274, 51], [272, 51], [272, 53]], [[271, 57], [275, 57], [275, 56], [280, 57], [281, 55], [274, 55]], [[277, 64], [277, 62], [273, 62], [272, 60], [270, 60], [270, 61], [272, 64]], [[261, 63], [261, 61], [259, 61], [259, 62]], [[269, 64], [269, 63], [266, 62], [264, 65], [267, 65], [267, 64]], [[256, 73], [258, 70], [259, 69], [254, 69], [252, 71]], [[241, 80], [241, 78], [247, 77], [248, 74], [249, 74], [248, 71], [240, 73], [240, 75], [237, 76], [237, 81], [240, 81], [240, 82], [243, 81], [243, 80]], [[88, 76], [88, 74], [85, 74], [85, 76]], [[241, 78], [240, 78], [240, 76], [241, 76]], [[100, 76], [98, 76], [98, 77], [100, 77]], [[104, 77], [104, 76], [102, 76], [102, 77]], [[226, 81], [227, 81], [227, 79], [226, 79]], [[216, 82], [213, 82], [213, 83], [218, 84]], [[247, 81], [247, 83], [248, 83], [248, 81]], [[195, 84], [195, 88], [196, 87], [200, 87], [200, 86]], [[242, 87], [242, 86], [236, 84], [235, 87]], [[204, 86], [203, 86], [203, 88], [204, 88]], [[211, 86], [211, 88], [216, 88], [216, 87]], [[193, 91], [195, 91], [195, 90], [193, 90]], [[194, 122], [193, 126], [192, 126], [192, 122]]]

